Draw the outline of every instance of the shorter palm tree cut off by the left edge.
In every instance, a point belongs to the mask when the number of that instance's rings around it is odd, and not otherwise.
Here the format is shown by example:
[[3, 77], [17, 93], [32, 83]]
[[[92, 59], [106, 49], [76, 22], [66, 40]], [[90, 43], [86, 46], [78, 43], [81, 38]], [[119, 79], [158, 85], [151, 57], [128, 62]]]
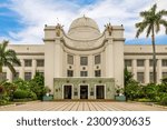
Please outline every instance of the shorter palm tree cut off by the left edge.
[[7, 66], [10, 71], [16, 74], [13, 63], [21, 66], [20, 60], [17, 58], [14, 50], [7, 49], [9, 41], [2, 41], [0, 43], [0, 80], [2, 78], [2, 67]]

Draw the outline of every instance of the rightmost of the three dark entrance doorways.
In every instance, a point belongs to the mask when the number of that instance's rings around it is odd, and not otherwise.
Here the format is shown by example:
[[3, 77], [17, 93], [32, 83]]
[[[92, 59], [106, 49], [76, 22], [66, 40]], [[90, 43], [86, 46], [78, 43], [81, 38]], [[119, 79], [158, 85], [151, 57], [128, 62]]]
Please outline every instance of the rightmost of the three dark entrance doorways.
[[104, 86], [96, 86], [96, 98], [105, 99], [105, 87]]

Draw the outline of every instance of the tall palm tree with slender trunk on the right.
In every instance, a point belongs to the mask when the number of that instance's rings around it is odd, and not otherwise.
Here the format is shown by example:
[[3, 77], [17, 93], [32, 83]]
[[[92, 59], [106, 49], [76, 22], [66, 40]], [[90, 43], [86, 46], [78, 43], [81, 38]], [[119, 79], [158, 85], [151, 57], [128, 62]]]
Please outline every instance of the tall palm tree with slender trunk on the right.
[[167, 16], [166, 10], [157, 10], [157, 4], [154, 4], [148, 11], [141, 11], [140, 17], [143, 21], [136, 23], [137, 33], [136, 37], [138, 38], [144, 30], [147, 31], [146, 37], [151, 34], [151, 44], [153, 44], [153, 73], [154, 73], [154, 83], [156, 83], [156, 46], [155, 46], [155, 33], [158, 33], [160, 30], [160, 26], [164, 26], [166, 29], [167, 34], [167, 21], [163, 18]]

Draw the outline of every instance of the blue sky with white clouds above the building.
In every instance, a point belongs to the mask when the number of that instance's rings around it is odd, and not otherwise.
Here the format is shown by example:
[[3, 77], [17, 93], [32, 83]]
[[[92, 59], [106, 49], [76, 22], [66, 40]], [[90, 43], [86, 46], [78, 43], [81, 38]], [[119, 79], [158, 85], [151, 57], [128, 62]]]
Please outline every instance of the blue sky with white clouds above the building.
[[[127, 44], [150, 44], [145, 32], [135, 38], [135, 23], [143, 20], [139, 12], [155, 3], [158, 10], [167, 9], [167, 0], [0, 0], [0, 41], [43, 43], [45, 24], [59, 22], [67, 32], [72, 20], [85, 14], [97, 22], [101, 32], [108, 22], [124, 24]], [[164, 27], [156, 34], [156, 44], [167, 44]]]

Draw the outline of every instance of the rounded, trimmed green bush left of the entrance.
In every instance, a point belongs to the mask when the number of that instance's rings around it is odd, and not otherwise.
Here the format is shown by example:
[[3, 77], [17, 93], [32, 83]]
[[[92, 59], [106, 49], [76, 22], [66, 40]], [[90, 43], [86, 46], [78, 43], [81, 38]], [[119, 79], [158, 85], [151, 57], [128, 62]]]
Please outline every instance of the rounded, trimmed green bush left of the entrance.
[[24, 90], [17, 90], [14, 91], [13, 93], [13, 99], [26, 99], [28, 98], [28, 91], [24, 91]]

